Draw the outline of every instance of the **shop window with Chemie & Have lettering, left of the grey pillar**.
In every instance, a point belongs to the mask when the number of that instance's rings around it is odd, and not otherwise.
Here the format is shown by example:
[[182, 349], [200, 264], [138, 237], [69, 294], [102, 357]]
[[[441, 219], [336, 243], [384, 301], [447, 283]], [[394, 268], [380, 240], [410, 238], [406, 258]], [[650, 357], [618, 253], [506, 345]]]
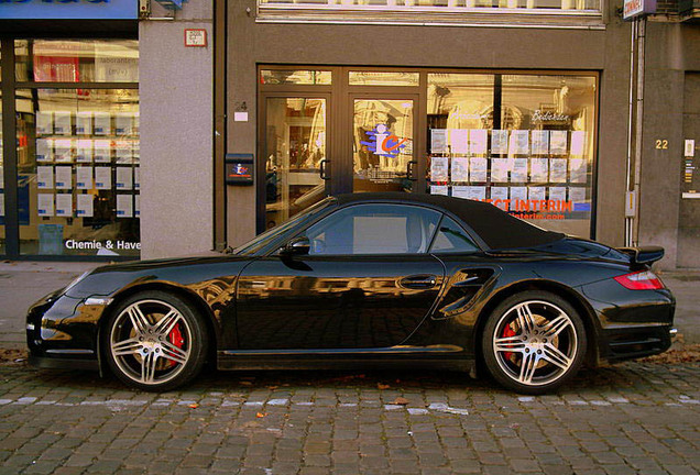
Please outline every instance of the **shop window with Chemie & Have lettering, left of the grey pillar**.
[[18, 89], [20, 253], [139, 256], [138, 89]]

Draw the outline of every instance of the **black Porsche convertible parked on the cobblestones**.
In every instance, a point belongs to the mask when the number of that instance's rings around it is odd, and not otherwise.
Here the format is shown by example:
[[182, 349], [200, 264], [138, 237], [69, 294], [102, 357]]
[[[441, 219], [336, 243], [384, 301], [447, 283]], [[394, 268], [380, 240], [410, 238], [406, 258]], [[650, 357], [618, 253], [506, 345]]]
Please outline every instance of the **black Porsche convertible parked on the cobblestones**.
[[232, 255], [106, 265], [36, 302], [40, 366], [169, 390], [221, 369], [408, 363], [540, 394], [670, 346], [660, 247], [612, 248], [478, 201], [326, 198]]

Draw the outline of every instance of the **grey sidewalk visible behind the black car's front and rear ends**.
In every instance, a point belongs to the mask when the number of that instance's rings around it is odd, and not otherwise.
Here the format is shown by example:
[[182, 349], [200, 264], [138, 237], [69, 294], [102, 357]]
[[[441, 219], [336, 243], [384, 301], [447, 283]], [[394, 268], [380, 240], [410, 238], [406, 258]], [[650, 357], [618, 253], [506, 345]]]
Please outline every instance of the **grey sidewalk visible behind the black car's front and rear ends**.
[[[24, 347], [24, 316], [41, 297], [67, 285], [95, 263], [0, 263], [0, 347]], [[676, 327], [700, 343], [700, 270], [659, 273], [678, 300]]]

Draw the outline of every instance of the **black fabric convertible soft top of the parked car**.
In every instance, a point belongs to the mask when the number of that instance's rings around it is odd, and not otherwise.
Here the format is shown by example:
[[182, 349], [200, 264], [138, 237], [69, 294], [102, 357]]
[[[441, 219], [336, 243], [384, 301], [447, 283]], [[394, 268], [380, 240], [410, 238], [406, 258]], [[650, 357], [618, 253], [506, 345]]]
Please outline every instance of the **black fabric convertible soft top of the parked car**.
[[340, 205], [367, 201], [395, 201], [442, 208], [471, 227], [492, 250], [533, 247], [565, 238], [562, 233], [545, 231], [534, 227], [483, 201], [452, 198], [441, 195], [402, 192], [338, 195], [336, 199]]

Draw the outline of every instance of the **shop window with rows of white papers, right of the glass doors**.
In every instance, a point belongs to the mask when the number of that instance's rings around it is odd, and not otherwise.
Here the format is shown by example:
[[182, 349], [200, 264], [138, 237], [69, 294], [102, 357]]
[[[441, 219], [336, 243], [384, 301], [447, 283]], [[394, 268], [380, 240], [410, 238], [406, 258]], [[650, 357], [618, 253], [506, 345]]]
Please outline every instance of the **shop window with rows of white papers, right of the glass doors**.
[[428, 75], [429, 192], [589, 236], [595, 77]]

